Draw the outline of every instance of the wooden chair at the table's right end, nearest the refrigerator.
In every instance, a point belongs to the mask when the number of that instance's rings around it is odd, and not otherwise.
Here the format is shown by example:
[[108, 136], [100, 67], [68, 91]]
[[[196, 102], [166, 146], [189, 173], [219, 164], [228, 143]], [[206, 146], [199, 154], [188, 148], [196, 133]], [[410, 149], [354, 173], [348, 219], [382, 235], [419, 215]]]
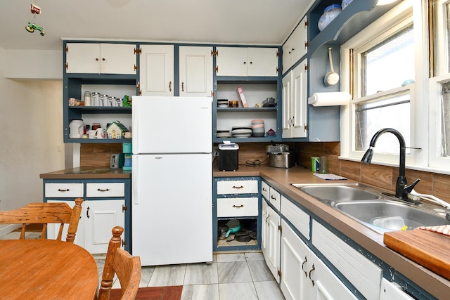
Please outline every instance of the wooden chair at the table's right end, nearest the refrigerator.
[[108, 253], [106, 254], [105, 267], [98, 291], [99, 300], [110, 299], [111, 287], [113, 286], [114, 274], [120, 281], [121, 300], [134, 299], [141, 281], [141, 258], [131, 256], [128, 252], [120, 249], [124, 228], [116, 226], [113, 228], [113, 237], [110, 240]]

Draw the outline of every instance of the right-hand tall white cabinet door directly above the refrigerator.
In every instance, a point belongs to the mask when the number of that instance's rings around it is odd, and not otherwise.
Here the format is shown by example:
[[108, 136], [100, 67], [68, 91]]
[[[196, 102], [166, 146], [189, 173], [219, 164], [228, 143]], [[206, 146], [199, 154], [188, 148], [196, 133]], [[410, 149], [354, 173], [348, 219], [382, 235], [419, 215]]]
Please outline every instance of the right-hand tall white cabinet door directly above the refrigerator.
[[179, 96], [212, 96], [212, 47], [179, 47]]

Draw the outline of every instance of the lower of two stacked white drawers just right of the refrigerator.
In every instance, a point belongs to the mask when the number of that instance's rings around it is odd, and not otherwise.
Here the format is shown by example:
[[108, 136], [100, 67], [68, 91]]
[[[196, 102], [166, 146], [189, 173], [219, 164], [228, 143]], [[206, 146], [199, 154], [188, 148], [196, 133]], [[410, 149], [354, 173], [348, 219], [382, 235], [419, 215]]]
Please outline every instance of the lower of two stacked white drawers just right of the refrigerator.
[[217, 216], [257, 216], [258, 198], [217, 199]]

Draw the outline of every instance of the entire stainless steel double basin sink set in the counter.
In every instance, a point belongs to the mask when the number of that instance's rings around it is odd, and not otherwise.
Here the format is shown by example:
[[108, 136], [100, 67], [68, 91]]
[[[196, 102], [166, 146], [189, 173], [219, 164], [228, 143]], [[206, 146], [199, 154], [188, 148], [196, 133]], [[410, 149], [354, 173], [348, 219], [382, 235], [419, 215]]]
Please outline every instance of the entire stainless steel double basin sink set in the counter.
[[444, 207], [405, 202], [361, 183], [292, 185], [380, 234], [450, 224], [450, 210]]

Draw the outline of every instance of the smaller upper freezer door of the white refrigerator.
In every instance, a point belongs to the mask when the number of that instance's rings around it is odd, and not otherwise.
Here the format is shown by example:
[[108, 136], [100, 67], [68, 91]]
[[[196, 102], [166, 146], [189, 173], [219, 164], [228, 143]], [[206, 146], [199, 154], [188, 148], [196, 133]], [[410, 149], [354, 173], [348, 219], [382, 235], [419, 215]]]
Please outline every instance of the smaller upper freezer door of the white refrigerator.
[[133, 97], [133, 153], [212, 152], [211, 97]]

